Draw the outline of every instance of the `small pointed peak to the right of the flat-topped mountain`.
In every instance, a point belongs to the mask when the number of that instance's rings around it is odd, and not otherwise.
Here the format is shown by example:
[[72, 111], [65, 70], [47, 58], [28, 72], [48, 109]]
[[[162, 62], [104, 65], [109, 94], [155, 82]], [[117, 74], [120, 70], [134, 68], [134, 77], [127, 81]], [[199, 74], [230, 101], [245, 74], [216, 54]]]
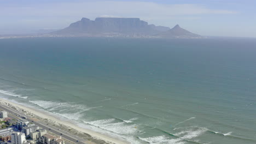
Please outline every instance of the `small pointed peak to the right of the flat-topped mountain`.
[[157, 35], [162, 38], [201, 38], [201, 35], [191, 33], [186, 29], [179, 27], [179, 25]]

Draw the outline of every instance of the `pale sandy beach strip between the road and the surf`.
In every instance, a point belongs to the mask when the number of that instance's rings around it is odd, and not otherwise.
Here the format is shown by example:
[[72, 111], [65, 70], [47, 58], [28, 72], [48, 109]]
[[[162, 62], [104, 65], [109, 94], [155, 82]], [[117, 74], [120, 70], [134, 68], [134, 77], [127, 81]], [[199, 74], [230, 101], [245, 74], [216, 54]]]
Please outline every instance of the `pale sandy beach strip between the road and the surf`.
[[13, 107], [15, 107], [16, 109], [18, 109], [20, 112], [24, 113], [25, 115], [27, 115], [29, 113], [29, 115], [31, 115], [31, 116], [36, 116], [39, 119], [44, 120], [42, 122], [45, 122], [45, 119], [47, 119], [46, 123], [50, 123], [53, 125], [56, 125], [56, 124], [62, 125], [62, 126], [64, 125], [68, 128], [72, 128], [72, 129], [76, 130], [76, 131], [74, 131], [76, 134], [82, 133], [84, 135], [90, 135], [92, 137], [92, 139], [102, 140], [106, 143], [113, 143], [113, 144], [129, 144], [130, 143], [125, 140], [118, 140], [118, 139], [115, 139], [114, 137], [103, 135], [103, 134], [97, 133], [97, 132], [89, 130], [89, 129], [80, 128], [80, 127], [78, 127], [78, 125], [75, 125], [71, 122], [62, 121], [61, 119], [58, 119], [51, 115], [48, 115], [45, 112], [40, 112], [39, 110], [33, 109], [31, 107], [26, 107], [24, 105], [16, 104], [12, 101], [9, 101], [9, 100], [3, 99], [3, 98], [0, 98], [0, 105], [7, 106], [9, 109], [13, 109]]

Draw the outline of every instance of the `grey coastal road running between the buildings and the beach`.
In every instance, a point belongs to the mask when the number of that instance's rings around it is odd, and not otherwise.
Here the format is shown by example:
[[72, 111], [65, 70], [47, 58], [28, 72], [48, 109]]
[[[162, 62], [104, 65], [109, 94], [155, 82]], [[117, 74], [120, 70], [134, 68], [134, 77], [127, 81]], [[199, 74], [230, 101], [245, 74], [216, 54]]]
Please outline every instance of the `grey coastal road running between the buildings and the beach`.
[[35, 122], [32, 119], [30, 119], [31, 118], [30, 116], [23, 115], [22, 112], [19, 112], [19, 111], [16, 111], [14, 109], [11, 109], [10, 107], [0, 105], [0, 109], [5, 110], [5, 111], [7, 111], [9, 113], [13, 113], [14, 116], [8, 115], [8, 117], [10, 117], [10, 118], [17, 119], [16, 116], [18, 116], [19, 118], [22, 118], [22, 117], [25, 116], [25, 117], [27, 117], [27, 119], [26, 119], [27, 121], [34, 123], [35, 125], [37, 125], [40, 128], [46, 129], [47, 131], [50, 131], [51, 133], [54, 133], [54, 134], [59, 135], [59, 136], [62, 136], [63, 138], [65, 138], [65, 139], [67, 139], [69, 141], [72, 141], [74, 143], [86, 144], [84, 142], [84, 139], [81, 139], [81, 138], [79, 138], [77, 136], [69, 134], [69, 133], [67, 133], [64, 130], [60, 130], [59, 128], [56, 128], [53, 125], [47, 125], [47, 124], [45, 124], [42, 121]]

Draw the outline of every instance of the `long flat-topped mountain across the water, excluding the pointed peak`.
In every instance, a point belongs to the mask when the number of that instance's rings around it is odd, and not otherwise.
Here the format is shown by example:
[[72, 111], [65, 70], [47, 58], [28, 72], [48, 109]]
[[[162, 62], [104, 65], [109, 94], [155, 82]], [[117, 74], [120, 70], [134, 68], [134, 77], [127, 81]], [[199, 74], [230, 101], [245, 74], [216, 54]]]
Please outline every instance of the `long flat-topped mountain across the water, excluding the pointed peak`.
[[113, 18], [98, 17], [95, 21], [83, 17], [80, 21], [71, 23], [69, 27], [53, 32], [53, 34], [74, 35], [152, 35], [157, 34], [168, 27], [148, 25], [148, 22], [139, 18]]

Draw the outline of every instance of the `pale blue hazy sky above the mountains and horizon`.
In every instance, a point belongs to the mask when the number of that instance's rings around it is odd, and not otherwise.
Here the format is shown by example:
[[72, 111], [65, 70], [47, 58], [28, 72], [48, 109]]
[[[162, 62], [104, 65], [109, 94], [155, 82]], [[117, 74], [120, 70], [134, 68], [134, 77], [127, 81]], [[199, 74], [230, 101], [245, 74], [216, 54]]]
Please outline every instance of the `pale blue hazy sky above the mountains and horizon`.
[[200, 35], [256, 38], [255, 0], [0, 0], [0, 35], [62, 29], [82, 17], [139, 17]]

